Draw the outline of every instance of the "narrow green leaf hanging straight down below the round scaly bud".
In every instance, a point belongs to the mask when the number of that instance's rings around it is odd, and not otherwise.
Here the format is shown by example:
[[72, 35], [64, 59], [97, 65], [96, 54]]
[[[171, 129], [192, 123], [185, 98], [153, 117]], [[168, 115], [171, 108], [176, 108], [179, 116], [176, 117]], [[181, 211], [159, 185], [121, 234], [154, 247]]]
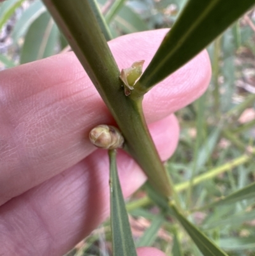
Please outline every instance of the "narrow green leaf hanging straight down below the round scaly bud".
[[111, 202], [111, 227], [113, 256], [136, 256], [135, 243], [133, 241], [128, 213], [122, 191], [116, 165], [116, 151], [109, 150], [110, 158], [110, 202]]

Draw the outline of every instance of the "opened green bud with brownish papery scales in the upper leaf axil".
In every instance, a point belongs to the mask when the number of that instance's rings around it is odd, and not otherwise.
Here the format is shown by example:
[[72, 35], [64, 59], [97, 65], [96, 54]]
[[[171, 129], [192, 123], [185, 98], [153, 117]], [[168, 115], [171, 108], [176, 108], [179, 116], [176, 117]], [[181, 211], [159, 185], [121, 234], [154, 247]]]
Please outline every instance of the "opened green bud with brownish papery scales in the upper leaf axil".
[[134, 89], [136, 80], [143, 73], [143, 63], [144, 61], [136, 61], [132, 64], [130, 68], [124, 68], [121, 70], [120, 79], [124, 82], [125, 94], [128, 96]]

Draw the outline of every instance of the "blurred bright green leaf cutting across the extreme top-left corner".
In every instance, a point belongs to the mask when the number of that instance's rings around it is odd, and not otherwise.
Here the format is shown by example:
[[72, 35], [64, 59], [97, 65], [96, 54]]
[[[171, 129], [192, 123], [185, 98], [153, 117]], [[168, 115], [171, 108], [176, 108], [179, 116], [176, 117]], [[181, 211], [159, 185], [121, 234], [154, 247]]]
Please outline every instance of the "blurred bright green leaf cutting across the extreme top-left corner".
[[13, 15], [14, 11], [24, 2], [24, 0], [10, 0], [6, 1], [1, 5], [0, 15], [0, 30]]

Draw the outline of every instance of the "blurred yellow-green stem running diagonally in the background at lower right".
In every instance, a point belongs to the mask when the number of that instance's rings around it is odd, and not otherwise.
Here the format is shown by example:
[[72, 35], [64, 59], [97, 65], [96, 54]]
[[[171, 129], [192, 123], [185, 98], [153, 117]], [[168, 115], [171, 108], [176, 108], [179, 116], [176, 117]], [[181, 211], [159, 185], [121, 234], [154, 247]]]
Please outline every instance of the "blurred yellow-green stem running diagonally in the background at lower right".
[[[208, 172], [205, 172], [203, 174], [200, 174], [197, 177], [194, 177], [193, 185], [197, 185], [202, 183], [203, 181], [207, 181], [208, 179], [212, 179], [219, 174], [222, 174], [224, 172], [228, 172], [229, 170], [234, 169], [235, 167], [239, 165], [243, 165], [244, 163], [250, 162], [255, 154], [255, 148], [252, 149], [251, 154], [243, 154], [242, 156], [239, 156], [238, 158], [235, 158], [234, 160], [225, 163], [224, 165], [221, 165], [219, 167], [215, 167], [211, 170], [208, 170]], [[189, 188], [189, 181], [184, 181], [183, 183], [179, 183], [175, 185], [175, 191], [182, 192]], [[127, 204], [128, 211], [132, 211], [138, 207], [147, 206], [148, 204], [151, 204], [152, 200], [149, 199], [149, 197], [145, 196], [142, 199], [135, 200], [133, 202], [130, 202]]]

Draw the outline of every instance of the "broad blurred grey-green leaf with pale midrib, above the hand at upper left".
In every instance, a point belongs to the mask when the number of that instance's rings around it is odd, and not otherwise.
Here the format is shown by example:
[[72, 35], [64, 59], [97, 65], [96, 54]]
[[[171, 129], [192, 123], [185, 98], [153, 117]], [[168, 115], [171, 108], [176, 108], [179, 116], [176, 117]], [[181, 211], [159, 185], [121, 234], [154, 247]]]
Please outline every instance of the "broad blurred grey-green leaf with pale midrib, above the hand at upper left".
[[20, 64], [43, 59], [54, 54], [59, 32], [48, 12], [33, 22], [25, 36]]

